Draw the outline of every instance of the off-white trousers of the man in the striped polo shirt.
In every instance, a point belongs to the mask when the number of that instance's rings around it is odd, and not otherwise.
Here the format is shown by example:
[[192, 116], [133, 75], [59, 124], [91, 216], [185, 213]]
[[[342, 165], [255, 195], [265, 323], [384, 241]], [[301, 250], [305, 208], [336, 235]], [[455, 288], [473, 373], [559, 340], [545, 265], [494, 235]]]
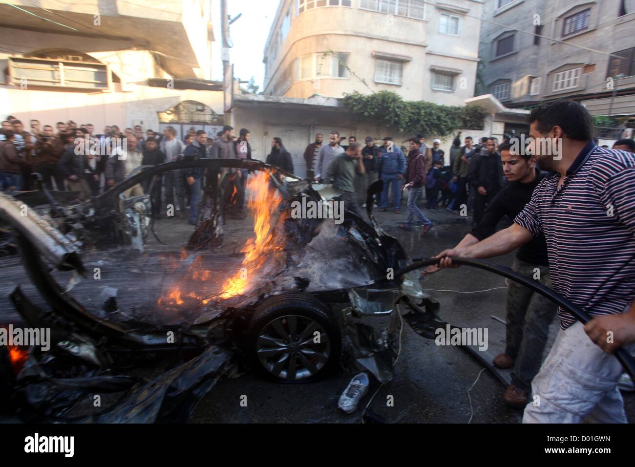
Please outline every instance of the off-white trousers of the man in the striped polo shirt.
[[617, 358], [594, 344], [576, 321], [560, 330], [533, 379], [523, 423], [580, 423], [588, 415], [599, 423], [627, 423], [617, 389], [622, 372]]

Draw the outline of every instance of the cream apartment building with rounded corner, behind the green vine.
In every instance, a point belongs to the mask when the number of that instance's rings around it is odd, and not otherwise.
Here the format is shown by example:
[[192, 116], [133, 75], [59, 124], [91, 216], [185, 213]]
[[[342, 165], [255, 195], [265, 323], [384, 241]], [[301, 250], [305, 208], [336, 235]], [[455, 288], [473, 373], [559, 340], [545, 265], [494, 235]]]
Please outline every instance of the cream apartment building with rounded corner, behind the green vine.
[[463, 105], [474, 95], [481, 7], [479, 0], [281, 0], [264, 50], [264, 93], [390, 90]]

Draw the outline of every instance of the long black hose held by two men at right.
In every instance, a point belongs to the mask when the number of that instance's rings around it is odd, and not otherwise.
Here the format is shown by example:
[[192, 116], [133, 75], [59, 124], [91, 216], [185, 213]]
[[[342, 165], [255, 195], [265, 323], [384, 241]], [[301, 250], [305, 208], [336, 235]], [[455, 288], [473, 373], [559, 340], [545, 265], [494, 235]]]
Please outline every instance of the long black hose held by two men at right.
[[[479, 269], [485, 269], [485, 271], [490, 271], [491, 273], [498, 274], [500, 276], [504, 276], [508, 279], [518, 282], [521, 285], [524, 285], [527, 288], [530, 288], [534, 292], [538, 292], [538, 294], [547, 297], [547, 299], [552, 302], [558, 304], [562, 308], [566, 309], [572, 313], [578, 321], [582, 324], [586, 324], [591, 321], [591, 316], [587, 315], [587, 312], [572, 302], [568, 301], [562, 295], [556, 294], [551, 288], [547, 288], [541, 283], [528, 278], [527, 276], [523, 276], [523, 274], [519, 274], [516, 271], [513, 271], [509, 267], [498, 266], [498, 264], [492, 264], [486, 261], [478, 261], [476, 259], [468, 259], [468, 258], [452, 258], [453, 264], [458, 264], [462, 266], [472, 266], [478, 267]], [[395, 273], [395, 277], [398, 278], [403, 276], [403, 274], [410, 273], [410, 271], [415, 271], [415, 269], [420, 269], [425, 266], [432, 266], [433, 264], [438, 264], [438, 259], [425, 259], [423, 261], [415, 261], [412, 264], [402, 267]], [[632, 356], [625, 351], [623, 348], [618, 348], [615, 353], [615, 358], [622, 363], [622, 367], [626, 370], [626, 372], [631, 375], [631, 379], [635, 381], [635, 360], [633, 360]]]

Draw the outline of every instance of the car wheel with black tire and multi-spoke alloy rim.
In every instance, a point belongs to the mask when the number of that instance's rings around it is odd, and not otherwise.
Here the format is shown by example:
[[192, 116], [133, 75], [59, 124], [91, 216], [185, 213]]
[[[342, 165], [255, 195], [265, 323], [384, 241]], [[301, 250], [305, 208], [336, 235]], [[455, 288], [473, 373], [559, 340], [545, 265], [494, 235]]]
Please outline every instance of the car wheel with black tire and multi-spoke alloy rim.
[[316, 381], [339, 362], [338, 325], [326, 305], [311, 295], [269, 297], [253, 314], [249, 330], [251, 360], [274, 381]]

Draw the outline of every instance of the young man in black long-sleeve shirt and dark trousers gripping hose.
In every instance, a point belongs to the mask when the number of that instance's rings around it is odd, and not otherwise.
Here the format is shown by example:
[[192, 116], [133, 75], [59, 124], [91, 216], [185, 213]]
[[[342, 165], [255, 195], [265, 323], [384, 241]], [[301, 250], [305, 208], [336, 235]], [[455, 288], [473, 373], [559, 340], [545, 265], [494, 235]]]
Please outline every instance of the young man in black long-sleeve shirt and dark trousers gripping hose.
[[[455, 248], [468, 247], [494, 234], [498, 222], [505, 215], [514, 220], [530, 201], [533, 189], [544, 178], [542, 172], [536, 168], [533, 157], [528, 154], [512, 154], [510, 149], [509, 144], [501, 144], [498, 149], [503, 173], [509, 180], [509, 185], [490, 201], [483, 219]], [[512, 269], [551, 288], [547, 243], [543, 235], [534, 237], [518, 248]], [[427, 273], [436, 271], [436, 266], [427, 269]], [[542, 295], [509, 281], [505, 352], [494, 358], [494, 365], [499, 368], [514, 367], [512, 384], [503, 395], [506, 403], [525, 407], [531, 380], [542, 363], [549, 325], [556, 316], [556, 311], [556, 305]]]

